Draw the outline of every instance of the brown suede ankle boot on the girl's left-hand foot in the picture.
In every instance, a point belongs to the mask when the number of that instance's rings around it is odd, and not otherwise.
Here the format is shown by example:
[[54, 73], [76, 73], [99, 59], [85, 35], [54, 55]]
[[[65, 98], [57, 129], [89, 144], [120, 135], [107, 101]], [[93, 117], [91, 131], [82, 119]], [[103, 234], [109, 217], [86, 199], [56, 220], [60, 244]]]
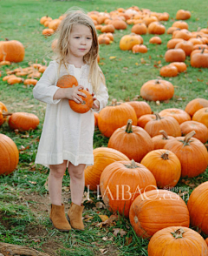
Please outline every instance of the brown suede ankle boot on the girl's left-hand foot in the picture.
[[64, 212], [64, 205], [52, 205], [49, 215], [49, 220], [52, 222], [53, 226], [59, 231], [68, 232], [71, 230], [71, 226], [68, 223]]

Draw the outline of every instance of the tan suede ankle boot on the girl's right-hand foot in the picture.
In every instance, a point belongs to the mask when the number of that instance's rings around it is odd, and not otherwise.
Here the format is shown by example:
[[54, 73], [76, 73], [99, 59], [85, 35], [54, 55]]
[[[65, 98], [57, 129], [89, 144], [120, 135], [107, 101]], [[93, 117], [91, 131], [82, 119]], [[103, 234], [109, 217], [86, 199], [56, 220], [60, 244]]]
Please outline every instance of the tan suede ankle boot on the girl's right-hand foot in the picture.
[[70, 209], [68, 210], [67, 219], [70, 222], [70, 225], [78, 230], [84, 230], [84, 224], [82, 221], [83, 209], [83, 205], [75, 205], [72, 203]]

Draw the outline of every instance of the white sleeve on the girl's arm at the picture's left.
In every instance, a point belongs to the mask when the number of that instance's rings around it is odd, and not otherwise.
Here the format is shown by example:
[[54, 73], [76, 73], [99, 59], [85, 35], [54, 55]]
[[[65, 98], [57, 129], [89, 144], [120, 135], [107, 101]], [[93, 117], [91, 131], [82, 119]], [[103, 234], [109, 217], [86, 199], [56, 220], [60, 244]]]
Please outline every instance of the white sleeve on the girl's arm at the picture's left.
[[34, 98], [48, 103], [57, 104], [59, 99], [54, 99], [55, 92], [60, 89], [55, 85], [56, 66], [55, 62], [50, 62], [49, 67], [44, 71], [40, 80], [36, 83], [33, 89]]

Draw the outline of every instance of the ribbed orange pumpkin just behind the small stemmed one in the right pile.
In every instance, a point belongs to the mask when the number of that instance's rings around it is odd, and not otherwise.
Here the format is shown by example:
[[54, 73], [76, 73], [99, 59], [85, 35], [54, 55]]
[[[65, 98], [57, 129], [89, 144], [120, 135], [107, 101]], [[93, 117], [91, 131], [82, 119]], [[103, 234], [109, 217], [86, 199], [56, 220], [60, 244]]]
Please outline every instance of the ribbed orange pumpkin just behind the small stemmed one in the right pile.
[[146, 123], [144, 128], [151, 137], [159, 135], [160, 130], [166, 131], [167, 135], [177, 137], [181, 135], [180, 126], [178, 121], [172, 117], [164, 117], [155, 120], [151, 120]]

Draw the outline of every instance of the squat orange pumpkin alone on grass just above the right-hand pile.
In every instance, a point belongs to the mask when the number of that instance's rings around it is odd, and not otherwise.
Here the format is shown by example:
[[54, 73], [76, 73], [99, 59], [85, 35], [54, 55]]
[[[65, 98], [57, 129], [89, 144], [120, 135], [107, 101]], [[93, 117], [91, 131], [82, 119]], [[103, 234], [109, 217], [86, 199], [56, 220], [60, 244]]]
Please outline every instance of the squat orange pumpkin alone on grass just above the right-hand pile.
[[146, 100], [162, 101], [172, 98], [173, 94], [174, 87], [166, 80], [149, 80], [140, 89], [140, 96]]

